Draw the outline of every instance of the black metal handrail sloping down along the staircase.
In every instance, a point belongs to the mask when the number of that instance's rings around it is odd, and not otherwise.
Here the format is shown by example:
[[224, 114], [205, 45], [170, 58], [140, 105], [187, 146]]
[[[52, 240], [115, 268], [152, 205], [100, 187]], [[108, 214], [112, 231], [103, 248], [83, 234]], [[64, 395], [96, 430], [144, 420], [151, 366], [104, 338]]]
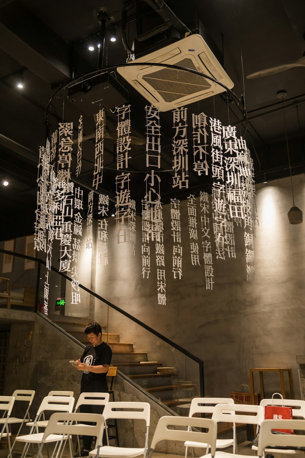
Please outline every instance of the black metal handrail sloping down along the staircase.
[[[4, 254], [10, 255], [10, 256], [17, 256], [17, 257], [21, 257], [21, 258], [23, 258], [23, 259], [29, 259], [30, 261], [38, 262], [37, 286], [36, 286], [36, 301], [35, 301], [35, 311], [37, 312], [37, 305], [38, 305], [38, 285], [39, 285], [39, 279], [40, 279], [40, 269], [41, 269], [41, 265], [42, 265], [42, 264], [43, 264], [44, 266], [46, 266], [46, 262], [43, 261], [43, 260], [40, 259], [40, 258], [35, 258], [35, 257], [32, 257], [32, 256], [21, 255], [20, 253], [16, 253], [16, 252], [14, 252], [14, 251], [6, 251], [6, 250], [3, 250], [2, 248], [0, 248], [0, 253], [4, 253]], [[64, 277], [66, 280], [69, 280], [70, 282], [72, 282], [72, 278], [68, 277], [68, 275], [66, 275], [65, 273], [59, 272], [59, 270], [58, 270], [56, 267], [51, 266], [51, 270], [53, 270], [54, 272], [56, 272], [56, 273], [58, 273], [59, 275], [61, 275], [62, 277]], [[186, 355], [188, 358], [190, 358], [191, 360], [196, 361], [196, 362], [199, 364], [200, 396], [201, 396], [201, 397], [204, 397], [203, 360], [201, 360], [200, 358], [198, 358], [197, 356], [195, 356], [193, 353], [190, 353], [189, 351], [187, 351], [186, 349], [184, 349], [184, 348], [181, 347], [180, 345], [176, 344], [175, 342], [173, 342], [173, 341], [170, 340], [169, 338], [163, 336], [161, 333], [159, 333], [158, 331], [156, 331], [156, 330], [153, 329], [152, 327], [150, 327], [150, 326], [148, 326], [147, 324], [143, 323], [142, 321], [138, 320], [138, 318], [135, 318], [134, 316], [130, 315], [130, 313], [124, 311], [123, 309], [120, 309], [117, 305], [112, 304], [111, 302], [109, 302], [109, 300], [104, 299], [104, 298], [103, 298], [102, 296], [100, 296], [99, 294], [95, 293], [94, 291], [91, 291], [91, 289], [86, 288], [86, 286], [84, 286], [84, 285], [82, 285], [82, 284], [79, 284], [79, 286], [80, 286], [81, 289], [84, 289], [87, 293], [92, 294], [94, 297], [96, 297], [96, 299], [101, 300], [101, 301], [104, 302], [105, 304], [109, 305], [112, 309], [114, 309], [114, 310], [116, 310], [116, 311], [122, 313], [124, 316], [127, 316], [127, 318], [129, 318], [129, 319], [132, 320], [133, 322], [139, 324], [139, 326], [143, 327], [144, 329], [146, 329], [146, 330], [149, 331], [150, 333], [154, 334], [155, 336], [157, 336], [158, 338], [160, 338], [161, 340], [163, 340], [164, 342], [166, 342], [166, 344], [171, 345], [171, 347], [174, 347], [175, 349], [177, 349], [177, 350], [180, 351], [181, 353], [185, 354], [185, 355]]]

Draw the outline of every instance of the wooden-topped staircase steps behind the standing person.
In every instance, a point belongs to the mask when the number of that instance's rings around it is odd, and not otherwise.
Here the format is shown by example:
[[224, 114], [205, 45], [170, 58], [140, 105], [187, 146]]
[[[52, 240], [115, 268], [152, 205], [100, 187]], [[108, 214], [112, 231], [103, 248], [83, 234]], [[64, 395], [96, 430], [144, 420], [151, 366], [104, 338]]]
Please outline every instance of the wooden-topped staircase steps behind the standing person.
[[[62, 327], [67, 333], [87, 345], [88, 341], [84, 334], [86, 319], [53, 315], [49, 318]], [[149, 362], [146, 352], [134, 352], [133, 343], [120, 342], [120, 334], [107, 333], [106, 325], [102, 326], [102, 339], [107, 342], [112, 349], [112, 365], [118, 366], [118, 370], [123, 372], [134, 383], [144, 388], [147, 393], [167, 405], [179, 415], [188, 414], [188, 404], [193, 397], [199, 396], [196, 385], [177, 382], [179, 374], [167, 375], [158, 374], [157, 368], [162, 367], [161, 362]], [[141, 364], [145, 362], [146, 364]], [[179, 404], [186, 407], [179, 408]]]

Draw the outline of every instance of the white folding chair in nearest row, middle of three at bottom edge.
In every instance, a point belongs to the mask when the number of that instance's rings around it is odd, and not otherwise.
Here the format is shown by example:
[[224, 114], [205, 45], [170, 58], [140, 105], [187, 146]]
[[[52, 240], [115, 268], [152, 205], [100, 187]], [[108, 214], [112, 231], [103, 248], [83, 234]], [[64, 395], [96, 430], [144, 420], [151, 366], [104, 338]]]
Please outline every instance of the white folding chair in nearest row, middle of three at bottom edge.
[[[187, 431], [182, 429], [169, 429], [168, 426], [187, 427]], [[204, 428], [205, 431], [193, 431], [193, 428]], [[217, 423], [214, 420], [197, 417], [161, 417], [158, 421], [157, 427], [155, 429], [155, 434], [151, 441], [149, 458], [151, 458], [151, 455], [155, 450], [156, 444], [163, 440], [190, 441], [196, 443], [210, 444], [210, 456], [214, 457], [216, 453], [216, 437]]]

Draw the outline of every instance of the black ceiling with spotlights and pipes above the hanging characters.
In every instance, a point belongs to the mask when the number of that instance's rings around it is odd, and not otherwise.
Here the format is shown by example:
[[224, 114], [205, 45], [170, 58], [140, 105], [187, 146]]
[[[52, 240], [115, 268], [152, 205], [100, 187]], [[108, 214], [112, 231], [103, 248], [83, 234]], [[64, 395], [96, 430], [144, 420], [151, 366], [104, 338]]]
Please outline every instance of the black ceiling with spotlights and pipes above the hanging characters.
[[[0, 1], [0, 240], [34, 232], [36, 207], [36, 179], [38, 149], [46, 137], [45, 110], [50, 98], [71, 78], [96, 70], [96, 51], [88, 50], [87, 38], [98, 37], [101, 29], [94, 11], [106, 8], [116, 27], [117, 41], [111, 43], [107, 26], [102, 66], [123, 64], [127, 53], [121, 35], [121, 11], [126, 0], [24, 0]], [[143, 31], [162, 23], [161, 18], [144, 2]], [[248, 113], [247, 133], [244, 135], [254, 160], [256, 181], [262, 182], [289, 175], [282, 101], [278, 91], [287, 93], [284, 105], [288, 132], [289, 153], [293, 174], [304, 172], [305, 137], [305, 68], [302, 66], [256, 79], [246, 75], [265, 68], [294, 62], [305, 50], [304, 0], [167, 0], [174, 13], [194, 29], [201, 22], [214, 43], [222, 51], [224, 67], [234, 82], [238, 98], [245, 98]], [[128, 11], [127, 38], [132, 44], [136, 34], [136, 10]], [[155, 38], [165, 40], [165, 33]], [[16, 87], [22, 73], [24, 88]], [[132, 134], [144, 137], [144, 99], [128, 83], [121, 80], [129, 92], [132, 111]], [[64, 91], [54, 98], [48, 121], [52, 126], [61, 120], [77, 121], [77, 110], [64, 105]], [[225, 125], [238, 123], [243, 132], [241, 114], [232, 103], [215, 96], [188, 105], [214, 114]], [[193, 109], [192, 109], [193, 108]], [[115, 131], [116, 117], [107, 111], [107, 129]], [[229, 118], [229, 119], [228, 119]], [[77, 124], [75, 124], [77, 125]], [[165, 114], [162, 126], [161, 166], [171, 169], [170, 114]], [[168, 129], [167, 129], [168, 127]], [[84, 135], [94, 130], [92, 117], [84, 117]], [[167, 135], [166, 132], [169, 132]], [[77, 138], [77, 131], [75, 130]], [[114, 194], [113, 141], [105, 140], [104, 179], [102, 188]], [[303, 143], [303, 145], [302, 145]], [[90, 187], [94, 144], [83, 144], [83, 172], [81, 182]], [[75, 160], [73, 167], [75, 169]], [[134, 171], [134, 197], [140, 203], [145, 173], [145, 147], [134, 146], [130, 169]], [[140, 173], [143, 171], [144, 173]], [[184, 198], [190, 192], [198, 195], [208, 189], [210, 178], [199, 179], [190, 174], [189, 190], [171, 189], [170, 174], [165, 172], [169, 185], [162, 188], [162, 201], [172, 195]], [[3, 186], [3, 180], [9, 181]], [[166, 180], [164, 180], [164, 183]]]

